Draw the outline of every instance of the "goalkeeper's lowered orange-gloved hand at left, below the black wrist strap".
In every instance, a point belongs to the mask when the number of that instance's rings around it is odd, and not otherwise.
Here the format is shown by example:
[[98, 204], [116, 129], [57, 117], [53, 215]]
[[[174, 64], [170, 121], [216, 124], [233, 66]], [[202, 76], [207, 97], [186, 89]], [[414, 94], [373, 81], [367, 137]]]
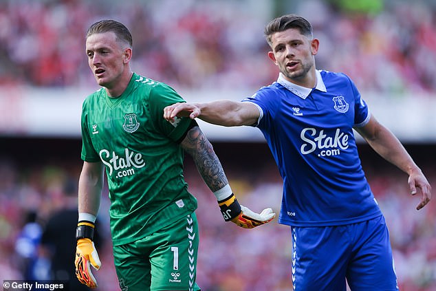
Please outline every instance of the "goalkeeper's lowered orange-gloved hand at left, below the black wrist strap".
[[87, 285], [89, 288], [96, 288], [97, 281], [91, 272], [89, 265], [98, 270], [101, 267], [100, 258], [94, 242], [91, 239], [78, 239], [76, 248], [76, 277], [80, 283]]

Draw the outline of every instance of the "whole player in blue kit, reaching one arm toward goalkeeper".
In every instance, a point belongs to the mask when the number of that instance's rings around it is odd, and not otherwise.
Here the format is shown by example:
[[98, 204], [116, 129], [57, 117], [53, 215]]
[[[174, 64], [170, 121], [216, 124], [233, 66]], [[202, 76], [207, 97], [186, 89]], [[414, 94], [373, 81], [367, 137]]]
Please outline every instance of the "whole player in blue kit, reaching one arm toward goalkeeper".
[[241, 102], [178, 103], [164, 118], [258, 127], [283, 178], [279, 223], [292, 229], [294, 290], [398, 290], [384, 216], [362, 170], [355, 129], [408, 174], [417, 210], [431, 186], [400, 141], [371, 114], [345, 74], [316, 69], [319, 41], [295, 14], [265, 27], [279, 78]]

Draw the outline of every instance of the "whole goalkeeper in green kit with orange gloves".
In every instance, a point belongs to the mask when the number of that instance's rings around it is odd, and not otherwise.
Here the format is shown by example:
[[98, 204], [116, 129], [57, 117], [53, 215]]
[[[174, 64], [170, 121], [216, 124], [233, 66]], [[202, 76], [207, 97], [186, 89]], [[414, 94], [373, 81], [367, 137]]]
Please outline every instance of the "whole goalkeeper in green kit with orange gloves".
[[184, 181], [184, 152], [217, 197], [224, 220], [254, 228], [275, 214], [271, 208], [258, 214], [239, 205], [195, 120], [163, 118], [164, 107], [184, 100], [168, 85], [131, 71], [132, 37], [122, 23], [91, 25], [86, 54], [102, 88], [86, 98], [81, 117], [77, 278], [90, 288], [97, 286], [90, 266], [101, 266], [92, 239], [105, 171], [121, 290], [200, 290], [195, 283], [197, 200]]

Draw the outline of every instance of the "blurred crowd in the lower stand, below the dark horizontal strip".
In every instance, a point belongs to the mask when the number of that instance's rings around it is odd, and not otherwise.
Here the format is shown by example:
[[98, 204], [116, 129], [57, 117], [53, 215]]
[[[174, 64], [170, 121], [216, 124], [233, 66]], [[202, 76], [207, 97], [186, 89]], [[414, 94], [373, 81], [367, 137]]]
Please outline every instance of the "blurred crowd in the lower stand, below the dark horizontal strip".
[[[224, 157], [221, 160], [241, 204], [257, 212], [268, 206], [279, 211], [281, 179], [268, 151], [259, 151], [257, 159], [247, 153], [246, 160], [241, 160], [246, 153], [244, 149], [230, 148], [231, 153], [221, 149]], [[235, 151], [238, 158], [232, 158]], [[422, 167], [430, 183], [436, 185], [436, 171], [428, 162]], [[56, 254], [54, 244], [65, 237], [74, 244], [76, 218], [71, 226], [62, 219], [64, 230], [58, 231], [52, 241], [44, 239], [46, 228], [58, 211], [76, 211], [80, 168], [80, 161], [72, 158], [45, 164], [0, 159], [0, 281], [51, 279], [55, 275], [50, 271]], [[364, 169], [389, 226], [400, 290], [436, 290], [436, 204], [432, 201], [416, 211], [419, 198], [409, 194], [405, 174], [377, 163]], [[192, 162], [186, 162], [185, 177], [190, 192], [199, 202], [197, 283], [202, 290], [292, 290], [290, 227], [278, 224], [276, 219], [252, 230], [226, 223], [215, 196], [202, 182]], [[102, 268], [94, 274], [98, 290], [115, 291], [119, 287], [111, 255], [107, 189], [103, 192], [98, 216], [100, 239], [96, 242]], [[64, 254], [68, 258], [64, 263], [73, 268], [74, 250], [65, 245], [67, 249], [71, 253]], [[76, 281], [74, 274], [61, 275], [57, 274], [57, 278]]]

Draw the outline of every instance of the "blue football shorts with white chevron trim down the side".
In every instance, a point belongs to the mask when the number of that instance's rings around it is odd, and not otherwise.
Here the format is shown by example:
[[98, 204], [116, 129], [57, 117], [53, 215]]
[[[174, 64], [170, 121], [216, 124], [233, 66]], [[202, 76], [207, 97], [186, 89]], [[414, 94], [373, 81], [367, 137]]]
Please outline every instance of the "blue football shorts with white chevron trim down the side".
[[292, 227], [294, 290], [398, 290], [383, 215], [356, 224]]

